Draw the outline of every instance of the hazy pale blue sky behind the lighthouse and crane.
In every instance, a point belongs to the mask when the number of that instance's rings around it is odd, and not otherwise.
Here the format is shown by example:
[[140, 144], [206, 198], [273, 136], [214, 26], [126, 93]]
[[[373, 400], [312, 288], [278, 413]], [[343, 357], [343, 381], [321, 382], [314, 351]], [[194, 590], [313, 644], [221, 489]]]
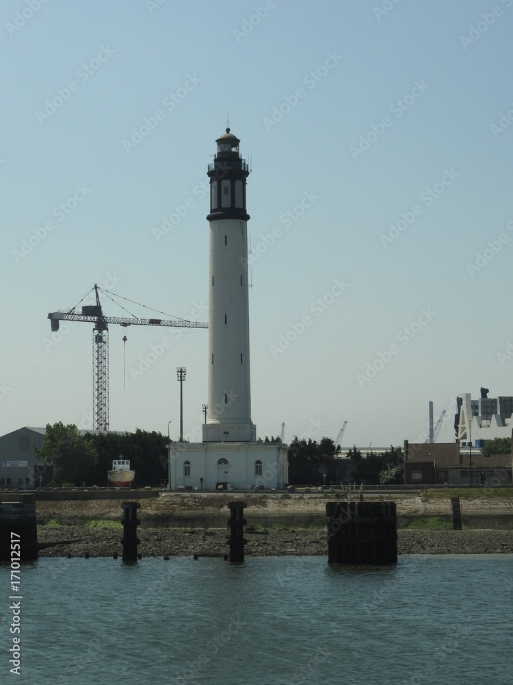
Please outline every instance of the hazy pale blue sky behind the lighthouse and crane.
[[[513, 395], [513, 0], [4, 0], [0, 20], [2, 433], [90, 427], [92, 325], [52, 339], [47, 314], [95, 282], [207, 321], [227, 112], [252, 156], [259, 436], [347, 420], [343, 446], [397, 445], [430, 400]], [[111, 326], [111, 429], [176, 437], [176, 366], [201, 423], [207, 332], [173, 330], [128, 329], [123, 389]]]

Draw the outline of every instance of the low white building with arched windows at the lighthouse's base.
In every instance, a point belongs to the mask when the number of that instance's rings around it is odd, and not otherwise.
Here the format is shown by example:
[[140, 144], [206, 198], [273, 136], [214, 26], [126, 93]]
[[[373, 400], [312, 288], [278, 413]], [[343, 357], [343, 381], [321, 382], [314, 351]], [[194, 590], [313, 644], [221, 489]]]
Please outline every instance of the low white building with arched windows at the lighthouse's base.
[[280, 443], [170, 443], [171, 490], [266, 490], [287, 487], [287, 445]]

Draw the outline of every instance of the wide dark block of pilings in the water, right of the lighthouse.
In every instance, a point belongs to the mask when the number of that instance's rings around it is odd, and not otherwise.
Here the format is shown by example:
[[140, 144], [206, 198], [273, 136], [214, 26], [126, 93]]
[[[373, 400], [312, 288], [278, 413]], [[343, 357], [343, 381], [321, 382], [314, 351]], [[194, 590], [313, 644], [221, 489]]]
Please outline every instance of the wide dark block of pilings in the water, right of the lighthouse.
[[328, 564], [395, 564], [395, 502], [328, 502]]

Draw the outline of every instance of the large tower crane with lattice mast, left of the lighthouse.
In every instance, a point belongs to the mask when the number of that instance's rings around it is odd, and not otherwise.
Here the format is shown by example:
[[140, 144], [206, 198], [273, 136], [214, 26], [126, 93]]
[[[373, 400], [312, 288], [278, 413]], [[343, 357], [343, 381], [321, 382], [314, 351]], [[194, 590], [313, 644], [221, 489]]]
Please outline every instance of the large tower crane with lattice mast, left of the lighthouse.
[[[92, 414], [94, 429], [107, 431], [109, 429], [109, 323], [127, 328], [128, 326], [174, 326], [179, 328], [208, 328], [208, 323], [200, 321], [186, 321], [185, 319], [138, 319], [122, 316], [105, 316], [101, 308], [100, 296], [96, 283], [94, 284], [95, 305], [82, 307], [82, 313], [75, 312], [73, 307], [69, 312], [50, 312], [52, 332], [59, 330], [60, 321], [84, 321], [94, 323], [92, 331]], [[90, 290], [90, 292], [92, 292]], [[102, 292], [109, 292], [105, 290]], [[89, 294], [89, 293], [88, 293]], [[114, 295], [114, 293], [111, 293]], [[87, 297], [87, 296], [86, 296]], [[118, 297], [118, 296], [116, 296]], [[126, 299], [126, 298], [124, 298]], [[126, 340], [126, 336], [124, 337]]]

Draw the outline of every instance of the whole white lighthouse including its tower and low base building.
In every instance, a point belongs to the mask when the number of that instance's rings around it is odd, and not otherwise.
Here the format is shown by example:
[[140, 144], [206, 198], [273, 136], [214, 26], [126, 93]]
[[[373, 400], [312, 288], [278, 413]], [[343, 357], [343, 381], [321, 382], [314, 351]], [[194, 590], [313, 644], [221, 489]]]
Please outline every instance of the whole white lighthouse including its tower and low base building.
[[[248, 296], [248, 164], [230, 129], [209, 164], [208, 412], [202, 426], [171, 443], [172, 490], [285, 488], [287, 445], [257, 440], [251, 421]], [[194, 440], [202, 436], [202, 442]]]

